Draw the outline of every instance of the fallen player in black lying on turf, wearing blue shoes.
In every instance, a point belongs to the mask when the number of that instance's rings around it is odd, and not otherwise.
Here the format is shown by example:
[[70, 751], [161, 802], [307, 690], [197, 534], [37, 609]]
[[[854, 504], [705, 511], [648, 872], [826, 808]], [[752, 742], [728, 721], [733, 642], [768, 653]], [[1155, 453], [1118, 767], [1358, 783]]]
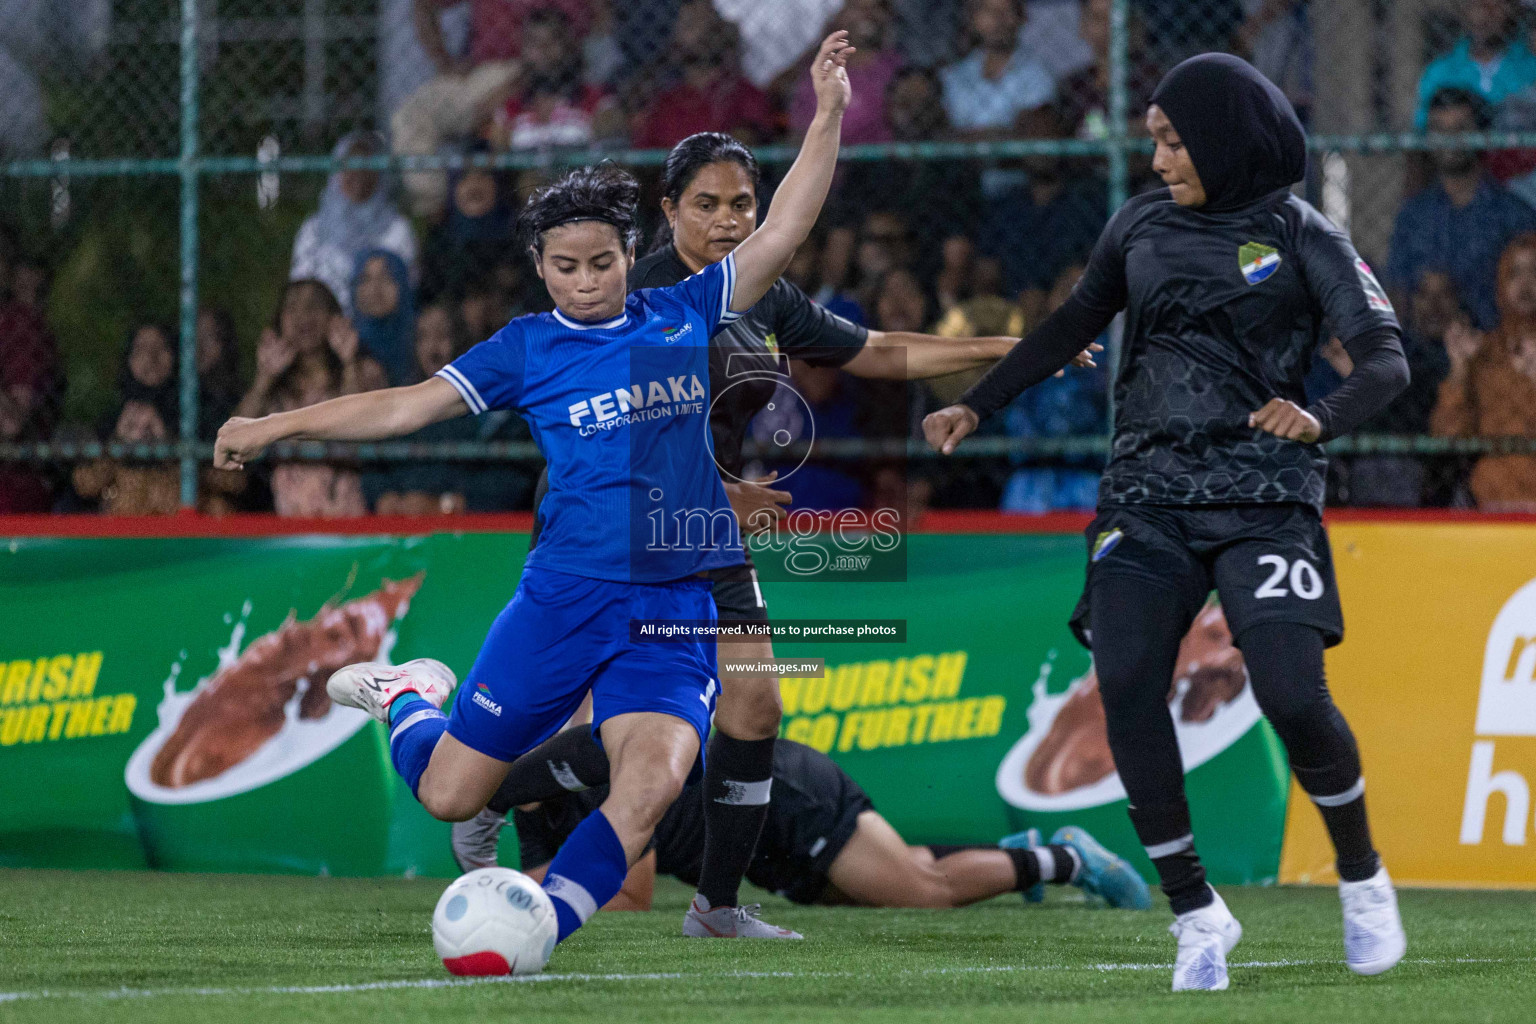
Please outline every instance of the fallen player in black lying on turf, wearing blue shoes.
[[[551, 757], [541, 757], [542, 751]], [[524, 874], [542, 878], [576, 824], [607, 798], [607, 757], [591, 729], [565, 729], [518, 761], [484, 814], [453, 826], [455, 860], [462, 870], [495, 864], [507, 809], [515, 808], [519, 863]], [[573, 792], [573, 786], [582, 789]], [[1057, 832], [1048, 846], [1026, 834], [997, 846], [909, 846], [833, 758], [791, 740], [774, 745], [773, 786], [746, 878], [796, 903], [963, 907], [1054, 883], [1074, 884], [1115, 907], [1152, 906], [1141, 877], [1075, 826]], [[657, 874], [699, 884], [705, 792], [702, 785], [682, 791], [656, 826], [651, 847], [607, 904], [610, 910], [648, 910]], [[751, 918], [756, 907], [736, 913]]]

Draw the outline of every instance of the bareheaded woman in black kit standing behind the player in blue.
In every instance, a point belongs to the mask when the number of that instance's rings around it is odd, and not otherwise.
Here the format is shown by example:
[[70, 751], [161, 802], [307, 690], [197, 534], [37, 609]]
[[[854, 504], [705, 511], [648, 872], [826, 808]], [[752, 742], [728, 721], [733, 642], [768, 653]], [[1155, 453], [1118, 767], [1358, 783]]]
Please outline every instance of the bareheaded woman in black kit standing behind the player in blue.
[[[667, 227], [651, 253], [630, 270], [631, 289], [665, 287], [725, 259], [757, 227], [757, 158], [736, 138], [700, 132], [677, 143], [662, 175]], [[842, 367], [862, 378], [912, 381], [986, 365], [1017, 344], [1015, 338], [938, 338], [866, 330], [813, 302], [805, 292], [779, 279], [757, 304], [710, 342], [710, 433], [714, 461], [737, 519], [763, 524], [782, 519], [791, 493], [774, 476], [743, 477], [742, 442], [746, 427], [788, 379], [788, 359]], [[1072, 361], [1094, 365], [1092, 339]], [[544, 482], [541, 481], [541, 491]], [[535, 497], [538, 510], [538, 497]], [[535, 542], [538, 524], [535, 524]], [[720, 622], [766, 622], [768, 609], [751, 556], [742, 565], [714, 570], [714, 602]], [[773, 657], [768, 640], [720, 642], [719, 659]], [[737, 890], [753, 860], [768, 817], [774, 738], [783, 708], [777, 676], [733, 676], [722, 680], [714, 734], [705, 758], [705, 847], [699, 895], [684, 918], [684, 935], [800, 938], [737, 906]], [[561, 737], [513, 765], [504, 789], [547, 785], [548, 765], [570, 765], [581, 775], [582, 749], [565, 749]], [[551, 794], [556, 795], [556, 794]], [[492, 800], [492, 808], [502, 806]], [[455, 826], [461, 863], [495, 864], [504, 815], [485, 811]]]

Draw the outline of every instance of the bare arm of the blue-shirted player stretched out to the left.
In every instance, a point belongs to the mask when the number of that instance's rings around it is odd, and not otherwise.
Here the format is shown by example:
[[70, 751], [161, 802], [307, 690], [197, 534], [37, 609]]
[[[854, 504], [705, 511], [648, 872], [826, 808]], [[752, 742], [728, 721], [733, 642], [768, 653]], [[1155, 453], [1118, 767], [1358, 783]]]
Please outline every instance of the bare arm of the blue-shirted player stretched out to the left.
[[235, 416], [218, 428], [214, 467], [244, 468], [280, 441], [384, 441], [468, 411], [453, 385], [435, 376], [410, 387], [343, 395], [260, 419]]

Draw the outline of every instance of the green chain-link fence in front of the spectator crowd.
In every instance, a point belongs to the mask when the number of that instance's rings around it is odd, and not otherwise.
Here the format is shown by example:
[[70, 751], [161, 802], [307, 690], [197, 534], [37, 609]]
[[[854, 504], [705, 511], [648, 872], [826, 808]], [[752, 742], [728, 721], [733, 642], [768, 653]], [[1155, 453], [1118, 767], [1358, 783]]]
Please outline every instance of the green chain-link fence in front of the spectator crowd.
[[[361, 243], [306, 241], [338, 190], [369, 193], [352, 203], [367, 216], [336, 223], [402, 256], [416, 313], [475, 339], [544, 299], [510, 221], [467, 204], [495, 213], [553, 167], [602, 158], [636, 169], [654, 209], [667, 146], [699, 127], [750, 140], [771, 181], [805, 120], [805, 51], [849, 28], [865, 54], [846, 166], [791, 270], [808, 292], [880, 329], [1026, 329], [1107, 212], [1155, 183], [1140, 121], [1158, 77], [1240, 52], [1307, 121], [1299, 190], [1387, 282], [1418, 378], [1333, 444], [1332, 500], [1536, 507], [1536, 470], [1476, 465], [1536, 450], [1536, 411], [1508, 408], [1522, 367], [1536, 388], [1530, 359], [1514, 344], [1495, 365], [1487, 341], [1513, 322], [1499, 253], [1536, 227], [1530, 21], [1493, 0], [0, 0], [0, 496], [123, 510], [170, 487], [170, 504], [267, 508], [261, 487], [209, 473], [212, 431], [260, 379], [263, 345], [269, 362], [292, 345], [266, 336], [290, 272], [355, 315]], [[1461, 92], [1428, 103], [1439, 86]], [[172, 356], [172, 395], [154, 358], [147, 376], [132, 365], [140, 348]], [[1319, 388], [1349, 368], [1324, 355]], [[1479, 367], [1504, 390], [1462, 387]], [[914, 476], [932, 468], [935, 500], [1071, 505], [1009, 494], [1020, 470], [1092, 474], [1106, 381], [1020, 407], [962, 448], [968, 468], [937, 468], [911, 424], [962, 385], [845, 382], [843, 399], [905, 405], [903, 422], [819, 441], [817, 457], [894, 445]], [[538, 467], [515, 422], [278, 454], [375, 476], [452, 461], [502, 505], [527, 500]]]

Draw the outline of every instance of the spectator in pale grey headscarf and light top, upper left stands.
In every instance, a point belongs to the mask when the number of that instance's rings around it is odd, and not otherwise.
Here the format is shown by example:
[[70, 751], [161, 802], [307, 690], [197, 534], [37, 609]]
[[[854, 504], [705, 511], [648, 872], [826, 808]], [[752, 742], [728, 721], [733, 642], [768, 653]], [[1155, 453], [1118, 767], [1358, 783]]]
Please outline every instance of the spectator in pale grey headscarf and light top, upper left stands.
[[[375, 157], [389, 152], [378, 132], [349, 132], [330, 152], [332, 158]], [[387, 249], [406, 261], [416, 278], [416, 233], [395, 206], [392, 183], [378, 170], [332, 172], [319, 197], [319, 210], [293, 238], [289, 279], [315, 278], [350, 307], [352, 272], [369, 249]], [[350, 309], [344, 309], [347, 315]]]

